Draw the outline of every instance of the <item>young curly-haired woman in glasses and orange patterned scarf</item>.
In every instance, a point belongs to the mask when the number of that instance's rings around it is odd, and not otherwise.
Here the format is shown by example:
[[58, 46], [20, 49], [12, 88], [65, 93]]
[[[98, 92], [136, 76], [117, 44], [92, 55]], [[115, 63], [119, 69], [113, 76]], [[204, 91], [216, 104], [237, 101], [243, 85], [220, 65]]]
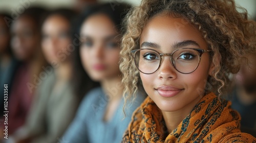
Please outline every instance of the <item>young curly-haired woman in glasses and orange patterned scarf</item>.
[[231, 103], [215, 94], [255, 49], [255, 26], [231, 0], [144, 0], [134, 8], [120, 69], [126, 99], [139, 78], [148, 97], [123, 142], [255, 142], [240, 132]]

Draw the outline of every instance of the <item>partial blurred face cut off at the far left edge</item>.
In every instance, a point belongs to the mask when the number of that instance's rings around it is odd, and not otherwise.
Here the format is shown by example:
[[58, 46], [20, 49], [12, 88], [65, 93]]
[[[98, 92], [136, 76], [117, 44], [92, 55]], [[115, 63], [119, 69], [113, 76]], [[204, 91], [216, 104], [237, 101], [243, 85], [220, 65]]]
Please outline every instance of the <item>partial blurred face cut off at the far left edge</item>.
[[10, 35], [7, 24], [3, 16], [0, 16], [0, 53], [7, 50], [9, 45]]

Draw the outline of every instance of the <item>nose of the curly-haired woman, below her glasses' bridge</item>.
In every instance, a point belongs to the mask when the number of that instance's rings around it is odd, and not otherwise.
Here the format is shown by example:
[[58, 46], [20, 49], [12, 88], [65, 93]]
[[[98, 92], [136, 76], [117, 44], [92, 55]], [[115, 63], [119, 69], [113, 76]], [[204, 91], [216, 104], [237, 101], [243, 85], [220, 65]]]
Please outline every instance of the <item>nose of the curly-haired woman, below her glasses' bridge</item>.
[[175, 79], [177, 77], [177, 71], [170, 61], [170, 56], [162, 57], [162, 63], [158, 69], [158, 78], [159, 79]]

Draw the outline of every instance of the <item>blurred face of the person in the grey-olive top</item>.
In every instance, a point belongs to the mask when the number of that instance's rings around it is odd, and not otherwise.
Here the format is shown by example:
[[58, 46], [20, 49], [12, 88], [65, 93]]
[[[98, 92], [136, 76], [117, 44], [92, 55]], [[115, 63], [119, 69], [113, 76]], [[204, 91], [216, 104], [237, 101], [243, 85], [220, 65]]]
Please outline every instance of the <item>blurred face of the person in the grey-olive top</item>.
[[41, 46], [49, 63], [66, 61], [68, 55], [63, 54], [71, 44], [69, 31], [69, 21], [60, 15], [52, 15], [43, 23]]

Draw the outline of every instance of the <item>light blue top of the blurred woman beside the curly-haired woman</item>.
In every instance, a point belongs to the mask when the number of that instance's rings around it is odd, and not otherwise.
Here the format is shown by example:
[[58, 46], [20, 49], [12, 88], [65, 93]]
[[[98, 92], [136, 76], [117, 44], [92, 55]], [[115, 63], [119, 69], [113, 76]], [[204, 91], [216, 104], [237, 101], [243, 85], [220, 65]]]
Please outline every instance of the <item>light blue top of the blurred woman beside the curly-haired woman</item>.
[[122, 135], [131, 121], [133, 111], [144, 99], [144, 94], [137, 94], [133, 104], [128, 104], [125, 108], [125, 118], [122, 110], [124, 104], [122, 99], [112, 119], [109, 122], [104, 122], [103, 116], [108, 98], [100, 87], [93, 89], [81, 102], [76, 117], [61, 138], [61, 142], [121, 142]]

